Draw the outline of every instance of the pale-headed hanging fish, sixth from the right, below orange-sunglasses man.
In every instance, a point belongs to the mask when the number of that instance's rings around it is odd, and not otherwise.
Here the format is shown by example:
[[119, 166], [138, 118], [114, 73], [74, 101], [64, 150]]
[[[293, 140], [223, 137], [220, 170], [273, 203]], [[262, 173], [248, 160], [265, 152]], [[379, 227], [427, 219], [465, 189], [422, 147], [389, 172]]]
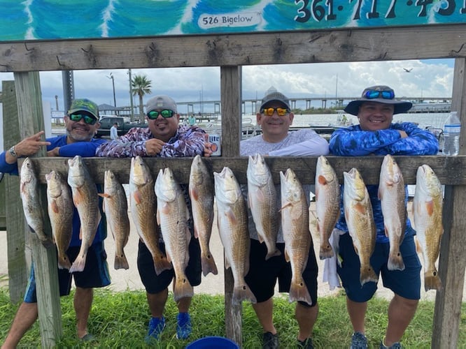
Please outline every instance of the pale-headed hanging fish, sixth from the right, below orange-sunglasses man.
[[265, 260], [268, 260], [274, 255], [281, 255], [276, 247], [279, 214], [274, 180], [262, 155], [249, 156], [246, 177], [248, 205], [259, 241], [267, 246]]

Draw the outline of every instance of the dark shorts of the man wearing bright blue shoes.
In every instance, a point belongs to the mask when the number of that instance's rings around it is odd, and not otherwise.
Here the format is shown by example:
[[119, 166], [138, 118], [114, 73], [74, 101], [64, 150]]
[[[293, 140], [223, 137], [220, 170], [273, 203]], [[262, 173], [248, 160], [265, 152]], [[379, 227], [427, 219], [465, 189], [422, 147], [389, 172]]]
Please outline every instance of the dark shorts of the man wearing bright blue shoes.
[[[165, 245], [159, 244], [160, 250], [165, 253]], [[201, 248], [195, 237], [191, 237], [190, 241], [190, 260], [185, 269], [186, 276], [192, 286], [198, 286], [201, 283]], [[141, 276], [141, 281], [150, 294], [161, 292], [167, 288], [175, 276], [174, 269], [164, 270], [159, 275], [155, 274], [154, 260], [141, 239], [139, 239], [138, 248], [138, 271]]]

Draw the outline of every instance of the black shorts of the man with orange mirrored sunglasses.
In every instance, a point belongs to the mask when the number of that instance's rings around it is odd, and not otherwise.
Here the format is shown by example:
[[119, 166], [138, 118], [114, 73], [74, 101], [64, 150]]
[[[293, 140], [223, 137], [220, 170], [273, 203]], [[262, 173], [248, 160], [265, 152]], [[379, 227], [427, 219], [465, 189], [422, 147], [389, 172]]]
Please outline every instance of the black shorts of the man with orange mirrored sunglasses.
[[[290, 292], [291, 285], [291, 264], [285, 260], [285, 244], [277, 243], [281, 255], [276, 255], [269, 260], [265, 260], [267, 246], [258, 240], [250, 239], [249, 272], [245, 277], [251, 291], [255, 295], [257, 302], [265, 302], [274, 296], [275, 284], [278, 279], [278, 292]], [[309, 295], [311, 295], [312, 306], [317, 304], [317, 275], [318, 265], [313, 244], [309, 248], [309, 258], [306, 268], [302, 272], [302, 277], [306, 283]], [[304, 306], [309, 306], [306, 302], [299, 302]]]

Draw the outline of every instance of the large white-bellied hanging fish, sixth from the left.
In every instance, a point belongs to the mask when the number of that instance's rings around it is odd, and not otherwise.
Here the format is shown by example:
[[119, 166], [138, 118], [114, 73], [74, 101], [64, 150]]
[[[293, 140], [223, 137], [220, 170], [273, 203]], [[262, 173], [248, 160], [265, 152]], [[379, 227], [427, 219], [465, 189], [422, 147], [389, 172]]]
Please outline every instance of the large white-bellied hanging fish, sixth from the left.
[[190, 260], [190, 214], [181, 186], [169, 168], [160, 170], [155, 180], [157, 222], [164, 238], [167, 259], [175, 270], [174, 299], [192, 297], [194, 289], [185, 274]]

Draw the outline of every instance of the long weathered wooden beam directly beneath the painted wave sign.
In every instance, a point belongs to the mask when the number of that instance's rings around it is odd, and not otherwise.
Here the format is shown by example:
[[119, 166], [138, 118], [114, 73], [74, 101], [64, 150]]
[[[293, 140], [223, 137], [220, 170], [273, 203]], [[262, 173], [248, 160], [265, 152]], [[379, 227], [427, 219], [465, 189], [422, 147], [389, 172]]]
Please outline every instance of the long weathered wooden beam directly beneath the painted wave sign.
[[465, 57], [465, 41], [465, 24], [130, 40], [37, 40], [0, 44], [0, 71], [456, 58]]

